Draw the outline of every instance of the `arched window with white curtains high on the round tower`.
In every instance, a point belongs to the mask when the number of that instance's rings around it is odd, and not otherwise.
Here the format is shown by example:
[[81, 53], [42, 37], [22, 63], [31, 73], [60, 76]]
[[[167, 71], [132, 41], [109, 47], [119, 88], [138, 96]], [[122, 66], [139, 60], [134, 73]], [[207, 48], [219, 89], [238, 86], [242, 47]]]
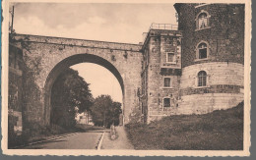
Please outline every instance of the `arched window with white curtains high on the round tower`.
[[210, 26], [209, 18], [210, 16], [207, 12], [201, 11], [196, 18], [196, 28], [197, 29], [208, 28]]

